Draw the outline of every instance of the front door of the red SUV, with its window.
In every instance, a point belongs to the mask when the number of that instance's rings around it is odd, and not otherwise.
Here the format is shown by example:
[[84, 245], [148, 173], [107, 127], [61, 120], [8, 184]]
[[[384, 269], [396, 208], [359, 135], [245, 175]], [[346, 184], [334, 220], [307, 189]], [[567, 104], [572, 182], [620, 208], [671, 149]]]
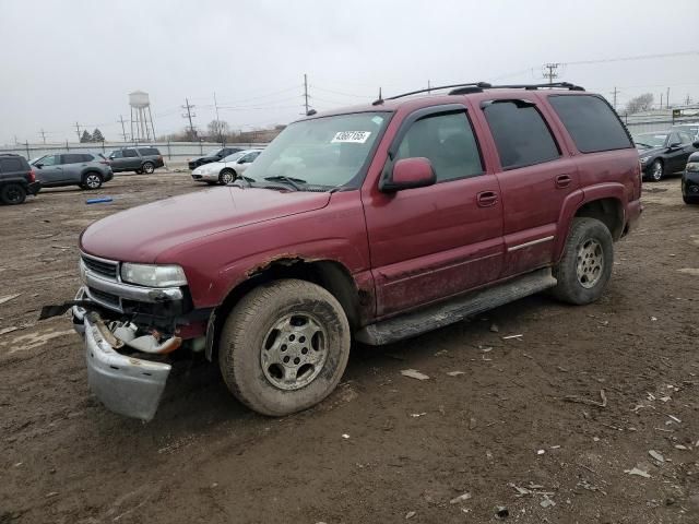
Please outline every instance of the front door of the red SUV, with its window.
[[466, 108], [407, 116], [390, 147], [395, 160], [430, 160], [437, 183], [383, 193], [367, 180], [367, 222], [377, 314], [386, 317], [495, 281], [502, 266], [502, 203]]

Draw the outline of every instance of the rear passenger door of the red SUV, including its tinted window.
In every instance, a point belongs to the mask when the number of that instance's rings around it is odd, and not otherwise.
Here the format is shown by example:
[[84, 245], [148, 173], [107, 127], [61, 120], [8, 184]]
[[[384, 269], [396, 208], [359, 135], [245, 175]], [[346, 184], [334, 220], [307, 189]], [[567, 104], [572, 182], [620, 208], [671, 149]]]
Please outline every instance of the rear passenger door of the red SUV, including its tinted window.
[[[502, 277], [549, 265], [564, 201], [579, 188], [576, 163], [548, 126], [535, 95], [485, 100], [482, 115], [499, 157], [505, 262]], [[582, 195], [581, 195], [582, 198]], [[565, 231], [562, 231], [565, 234]]]

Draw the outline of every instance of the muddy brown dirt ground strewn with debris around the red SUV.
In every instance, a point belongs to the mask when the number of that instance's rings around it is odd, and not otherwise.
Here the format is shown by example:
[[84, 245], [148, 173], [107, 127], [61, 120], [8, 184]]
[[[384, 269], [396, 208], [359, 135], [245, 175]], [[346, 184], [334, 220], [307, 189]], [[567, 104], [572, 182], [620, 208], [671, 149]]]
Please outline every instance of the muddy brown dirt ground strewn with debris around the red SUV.
[[699, 209], [677, 179], [645, 186], [595, 305], [537, 296], [353, 347], [339, 390], [281, 419], [181, 362], [152, 422], [121, 418], [91, 396], [70, 321], [38, 311], [72, 298], [91, 222], [200, 190], [118, 176], [90, 194], [111, 204], [0, 207], [0, 300], [20, 294], [0, 305], [0, 523], [699, 522]]

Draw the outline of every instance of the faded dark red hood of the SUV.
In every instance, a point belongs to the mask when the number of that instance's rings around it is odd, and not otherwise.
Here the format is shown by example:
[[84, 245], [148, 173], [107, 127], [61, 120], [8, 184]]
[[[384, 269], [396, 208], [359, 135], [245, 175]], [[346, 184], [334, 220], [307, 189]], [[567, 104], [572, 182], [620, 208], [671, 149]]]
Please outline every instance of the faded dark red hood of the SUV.
[[85, 229], [80, 246], [104, 259], [154, 263], [163, 251], [209, 235], [319, 210], [328, 192], [212, 188], [115, 213]]

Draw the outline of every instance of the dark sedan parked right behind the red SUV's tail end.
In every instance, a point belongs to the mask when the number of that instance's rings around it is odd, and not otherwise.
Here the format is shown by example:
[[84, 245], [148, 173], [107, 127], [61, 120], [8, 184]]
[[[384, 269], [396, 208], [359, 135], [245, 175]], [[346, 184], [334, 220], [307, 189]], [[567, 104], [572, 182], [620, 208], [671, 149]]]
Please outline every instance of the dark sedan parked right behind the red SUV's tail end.
[[635, 134], [643, 178], [659, 182], [667, 175], [682, 171], [696, 151], [692, 142], [694, 138], [684, 131]]

